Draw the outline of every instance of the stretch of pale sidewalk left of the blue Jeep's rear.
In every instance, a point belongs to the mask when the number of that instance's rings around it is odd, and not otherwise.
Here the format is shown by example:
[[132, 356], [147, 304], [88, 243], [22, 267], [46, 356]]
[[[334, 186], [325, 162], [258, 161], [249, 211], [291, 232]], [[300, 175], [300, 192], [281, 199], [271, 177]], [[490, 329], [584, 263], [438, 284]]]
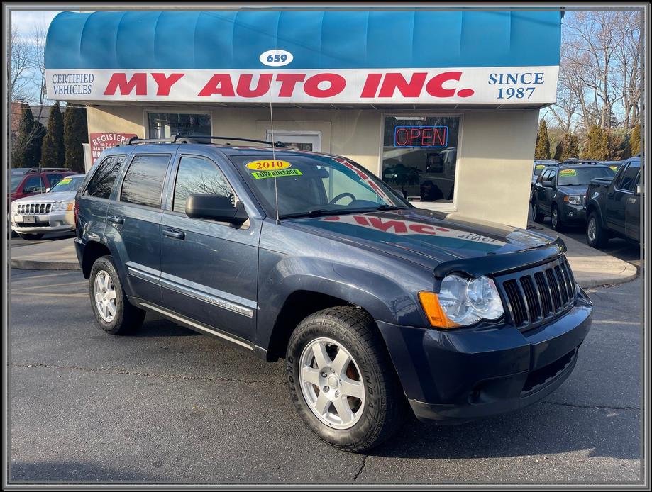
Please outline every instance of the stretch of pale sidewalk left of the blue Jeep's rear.
[[11, 249], [11, 268], [25, 270], [79, 270], [74, 237]]

